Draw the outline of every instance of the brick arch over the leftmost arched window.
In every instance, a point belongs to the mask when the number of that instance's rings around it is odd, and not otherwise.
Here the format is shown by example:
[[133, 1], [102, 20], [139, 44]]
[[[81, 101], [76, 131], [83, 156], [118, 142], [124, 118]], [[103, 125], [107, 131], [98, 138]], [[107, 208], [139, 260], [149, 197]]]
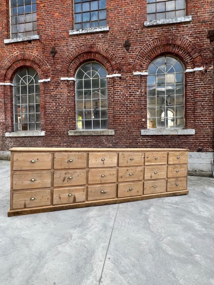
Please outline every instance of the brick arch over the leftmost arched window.
[[5, 60], [0, 67], [0, 80], [12, 82], [16, 70], [21, 66], [34, 68], [38, 72], [40, 79], [51, 77], [50, 68], [44, 58], [34, 53], [22, 52], [14, 54]]

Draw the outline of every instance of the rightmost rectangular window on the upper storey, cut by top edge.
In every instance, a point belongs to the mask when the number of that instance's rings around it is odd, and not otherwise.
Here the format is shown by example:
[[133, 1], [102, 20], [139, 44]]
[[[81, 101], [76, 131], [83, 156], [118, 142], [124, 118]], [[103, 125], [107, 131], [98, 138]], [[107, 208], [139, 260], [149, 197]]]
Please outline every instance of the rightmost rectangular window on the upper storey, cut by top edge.
[[185, 0], [147, 0], [147, 21], [185, 17]]

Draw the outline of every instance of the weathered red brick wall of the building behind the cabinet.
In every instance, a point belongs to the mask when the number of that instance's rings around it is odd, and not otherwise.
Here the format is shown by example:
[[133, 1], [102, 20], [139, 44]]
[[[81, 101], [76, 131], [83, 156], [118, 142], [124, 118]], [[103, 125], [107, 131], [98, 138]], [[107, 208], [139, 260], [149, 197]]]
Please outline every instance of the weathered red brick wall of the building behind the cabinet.
[[[12, 82], [17, 69], [31, 66], [41, 83], [41, 124], [45, 137], [5, 137], [13, 131], [13, 98], [11, 86], [0, 86], [0, 150], [13, 146], [61, 147], [180, 147], [213, 151], [213, 43], [207, 38], [213, 29], [214, 1], [187, 0], [191, 23], [144, 27], [146, 0], [107, 0], [110, 32], [69, 36], [73, 29], [73, 1], [37, 0], [40, 40], [5, 45], [9, 38], [9, 0], [0, 0], [0, 82]], [[131, 42], [129, 51], [124, 41]], [[53, 58], [52, 47], [57, 53]], [[185, 74], [185, 125], [195, 135], [141, 136], [147, 128], [146, 76], [133, 72], [146, 71], [159, 55], [174, 54], [185, 68], [205, 69]], [[74, 130], [74, 82], [60, 81], [73, 77], [87, 60], [103, 64], [108, 74], [120, 72], [122, 78], [108, 79], [109, 129], [114, 136], [69, 137]]]

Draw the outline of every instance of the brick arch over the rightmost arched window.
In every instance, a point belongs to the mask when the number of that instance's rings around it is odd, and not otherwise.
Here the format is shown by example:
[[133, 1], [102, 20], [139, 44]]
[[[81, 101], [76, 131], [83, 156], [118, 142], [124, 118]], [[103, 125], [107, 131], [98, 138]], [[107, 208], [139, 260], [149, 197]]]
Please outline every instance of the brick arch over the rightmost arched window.
[[186, 68], [204, 65], [200, 49], [193, 42], [184, 37], [161, 36], [142, 46], [134, 59], [133, 71], [146, 71], [154, 58], [166, 53], [179, 57]]

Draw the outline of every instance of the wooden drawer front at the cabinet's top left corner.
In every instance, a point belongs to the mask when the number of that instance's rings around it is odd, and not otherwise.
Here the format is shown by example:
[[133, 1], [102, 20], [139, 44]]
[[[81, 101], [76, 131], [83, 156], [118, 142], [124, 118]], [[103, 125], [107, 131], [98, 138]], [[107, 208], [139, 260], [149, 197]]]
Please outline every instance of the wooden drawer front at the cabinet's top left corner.
[[13, 170], [51, 169], [51, 153], [14, 153]]

